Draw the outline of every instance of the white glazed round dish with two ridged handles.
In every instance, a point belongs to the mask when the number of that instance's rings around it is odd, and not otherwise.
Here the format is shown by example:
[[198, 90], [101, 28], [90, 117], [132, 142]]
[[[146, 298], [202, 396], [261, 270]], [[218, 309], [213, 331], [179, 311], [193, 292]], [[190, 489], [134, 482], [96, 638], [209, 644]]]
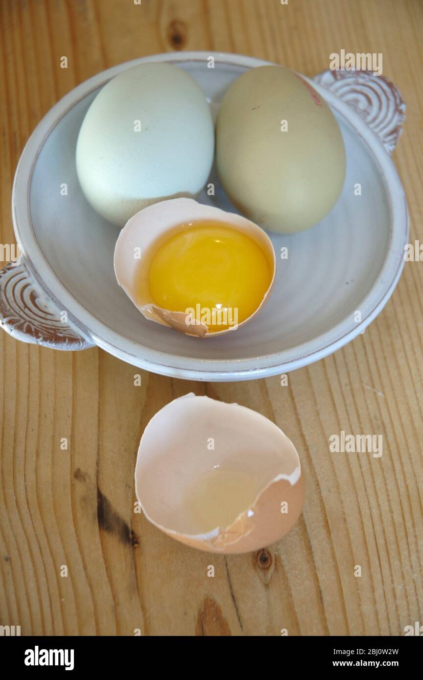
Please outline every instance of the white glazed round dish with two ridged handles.
[[[207, 67], [210, 56], [214, 68]], [[48, 112], [16, 170], [12, 216], [22, 262], [0, 272], [3, 328], [23, 341], [61, 350], [98, 345], [154, 373], [209, 381], [286, 373], [363, 333], [399, 280], [408, 241], [405, 194], [389, 155], [404, 118], [398, 90], [367, 72], [325, 71], [310, 81], [343, 133], [347, 177], [341, 198], [308, 231], [269, 234], [276, 254], [288, 247], [288, 259], [278, 260], [271, 299], [252, 322], [230, 337], [197, 339], [143, 319], [118, 286], [113, 253], [119, 230], [88, 205], [75, 173], [78, 131], [96, 92], [144, 61], [186, 69], [214, 115], [235, 78], [267, 63], [209, 52], [148, 56], [90, 78]], [[209, 181], [215, 195], [203, 190], [199, 201], [235, 211], [214, 171]], [[67, 196], [61, 195], [63, 184]]]

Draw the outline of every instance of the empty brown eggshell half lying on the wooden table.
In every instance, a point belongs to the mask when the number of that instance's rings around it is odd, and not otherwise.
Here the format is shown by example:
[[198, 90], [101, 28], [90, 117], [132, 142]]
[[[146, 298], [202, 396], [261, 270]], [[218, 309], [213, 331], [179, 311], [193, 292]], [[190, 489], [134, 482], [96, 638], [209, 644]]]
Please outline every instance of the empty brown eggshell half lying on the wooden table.
[[169, 536], [231, 554], [290, 531], [305, 484], [297, 450], [273, 422], [238, 404], [186, 394], [146, 426], [135, 492], [147, 519]]

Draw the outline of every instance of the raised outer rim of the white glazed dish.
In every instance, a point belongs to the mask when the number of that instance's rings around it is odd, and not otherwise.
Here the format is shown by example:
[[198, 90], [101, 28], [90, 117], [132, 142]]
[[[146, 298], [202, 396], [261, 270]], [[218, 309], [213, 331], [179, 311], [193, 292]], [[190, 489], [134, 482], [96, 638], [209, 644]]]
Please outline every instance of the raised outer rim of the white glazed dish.
[[[94, 314], [89, 312], [76, 299], [56, 276], [35, 237], [35, 231], [30, 214], [30, 190], [33, 170], [41, 148], [58, 122], [81, 99], [96, 90], [108, 80], [124, 69], [140, 63], [152, 61], [167, 61], [169, 63], [207, 62], [213, 56], [215, 64], [254, 68], [272, 65], [250, 56], [227, 54], [225, 52], [165, 52], [143, 56], [124, 62], [112, 68], [101, 71], [88, 80], [76, 86], [60, 99], [37, 124], [31, 137], [24, 146], [22, 155], [16, 168], [12, 189], [12, 220], [14, 233], [31, 274], [41, 289], [54, 301], [59, 309], [67, 309], [69, 322], [80, 333], [94, 342], [101, 349], [133, 364], [141, 369], [184, 379], [203, 381], [235, 381], [271, 377], [278, 373], [285, 373], [318, 361], [343, 345], [352, 341], [360, 333], [364, 333], [367, 326], [382, 311], [386, 305], [405, 265], [404, 245], [408, 242], [409, 218], [405, 193], [394, 163], [383, 144], [369, 126], [354, 112], [354, 110], [330, 90], [320, 86], [314, 80], [300, 74], [309, 82], [345, 120], [352, 125], [372, 153], [377, 167], [381, 171], [382, 180], [386, 188], [390, 214], [390, 238], [388, 251], [379, 276], [373, 286], [360, 303], [362, 320], [352, 325], [352, 315], [345, 316], [335, 326], [325, 333], [314, 337], [300, 345], [294, 345], [281, 352], [265, 354], [254, 358], [240, 359], [203, 359], [169, 354], [151, 349], [140, 343], [129, 340], [120, 333], [104, 324]], [[400, 248], [401, 246], [401, 248]], [[187, 341], [201, 342], [199, 339], [188, 338]], [[203, 342], [212, 343], [213, 339]], [[139, 347], [143, 356], [134, 353]], [[252, 367], [251, 364], [254, 364]]]

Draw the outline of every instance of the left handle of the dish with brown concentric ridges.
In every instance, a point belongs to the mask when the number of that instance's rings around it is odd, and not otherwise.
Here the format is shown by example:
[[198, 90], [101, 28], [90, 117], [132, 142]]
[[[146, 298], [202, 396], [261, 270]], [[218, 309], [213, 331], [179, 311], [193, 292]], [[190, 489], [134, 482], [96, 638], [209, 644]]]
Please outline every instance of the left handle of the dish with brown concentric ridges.
[[94, 343], [67, 320], [35, 282], [24, 258], [0, 269], [0, 327], [17, 340], [54, 350], [86, 350]]

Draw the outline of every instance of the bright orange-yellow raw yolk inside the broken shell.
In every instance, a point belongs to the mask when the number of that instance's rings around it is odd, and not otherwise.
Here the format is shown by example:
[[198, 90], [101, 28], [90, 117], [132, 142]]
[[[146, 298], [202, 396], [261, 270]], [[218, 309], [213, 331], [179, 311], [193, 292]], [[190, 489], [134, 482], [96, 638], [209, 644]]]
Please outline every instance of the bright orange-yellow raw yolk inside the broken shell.
[[271, 284], [271, 265], [260, 245], [222, 222], [190, 222], [175, 231], [150, 260], [154, 303], [194, 310], [193, 318], [205, 322], [209, 333], [248, 319]]

